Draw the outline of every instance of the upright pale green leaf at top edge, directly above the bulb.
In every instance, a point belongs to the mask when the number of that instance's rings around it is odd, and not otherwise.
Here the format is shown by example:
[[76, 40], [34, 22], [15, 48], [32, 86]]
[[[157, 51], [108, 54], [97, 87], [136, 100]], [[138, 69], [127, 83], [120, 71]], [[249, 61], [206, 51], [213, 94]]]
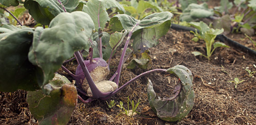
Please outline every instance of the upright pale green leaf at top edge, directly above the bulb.
[[124, 11], [124, 8], [115, 0], [89, 0], [83, 7], [82, 11], [91, 16], [96, 31], [99, 27], [104, 28], [109, 19], [106, 8], [119, 8]]

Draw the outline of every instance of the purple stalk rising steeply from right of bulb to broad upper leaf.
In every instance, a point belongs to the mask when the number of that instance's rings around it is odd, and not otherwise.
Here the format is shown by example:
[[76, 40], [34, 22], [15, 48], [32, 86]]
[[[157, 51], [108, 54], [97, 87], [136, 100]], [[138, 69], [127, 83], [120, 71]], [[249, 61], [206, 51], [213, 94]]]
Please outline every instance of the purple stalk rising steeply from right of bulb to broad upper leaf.
[[122, 52], [122, 55], [121, 55], [121, 58], [120, 58], [120, 61], [119, 61], [119, 64], [118, 64], [116, 78], [115, 78], [115, 80], [114, 80], [114, 82], [117, 84], [117, 86], [118, 86], [118, 83], [119, 83], [120, 74], [121, 74], [121, 69], [122, 69], [122, 66], [123, 66], [124, 56], [125, 56], [125, 53], [126, 53], [126, 50], [127, 50], [127, 47], [128, 47], [128, 43], [129, 43], [129, 41], [130, 41], [130, 39], [131, 39], [133, 30], [135, 29], [135, 27], [136, 27], [137, 25], [139, 25], [139, 23], [140, 23], [140, 22], [136, 23], [136, 25], [133, 26], [132, 30], [129, 31], [127, 40], [126, 40], [126, 42], [125, 42], [124, 49], [123, 49], [123, 52]]

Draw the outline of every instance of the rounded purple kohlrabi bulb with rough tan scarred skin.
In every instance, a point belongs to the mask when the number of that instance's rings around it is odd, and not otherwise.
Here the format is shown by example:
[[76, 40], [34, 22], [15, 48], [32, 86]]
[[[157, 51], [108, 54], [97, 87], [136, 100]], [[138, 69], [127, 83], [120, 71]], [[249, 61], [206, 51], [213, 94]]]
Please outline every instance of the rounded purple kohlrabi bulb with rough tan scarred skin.
[[[98, 83], [100, 81], [103, 81], [107, 78], [108, 74], [109, 74], [109, 69], [108, 69], [108, 64], [107, 62], [102, 59], [102, 58], [94, 58], [92, 63], [90, 63], [89, 60], [84, 61], [85, 65], [94, 81], [94, 83]], [[80, 64], [78, 65], [77, 69], [76, 69], [76, 75], [80, 75], [84, 73]], [[81, 77], [81, 87], [82, 89], [86, 92], [88, 90], [88, 82], [85, 78], [85, 75], [80, 75]]]

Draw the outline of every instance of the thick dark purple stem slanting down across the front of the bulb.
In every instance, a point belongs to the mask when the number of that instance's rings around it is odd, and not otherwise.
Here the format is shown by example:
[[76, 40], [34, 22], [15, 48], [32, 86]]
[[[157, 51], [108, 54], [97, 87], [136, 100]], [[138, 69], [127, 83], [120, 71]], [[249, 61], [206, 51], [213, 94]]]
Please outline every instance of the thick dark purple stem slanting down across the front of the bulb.
[[90, 86], [90, 88], [91, 88], [92, 95], [93, 95], [92, 98], [98, 99], [98, 98], [104, 98], [104, 97], [108, 96], [111, 92], [109, 92], [109, 93], [102, 93], [102, 92], [97, 88], [97, 86], [95, 85], [95, 83], [94, 83], [94, 81], [92, 80], [92, 78], [91, 78], [91, 76], [90, 76], [90, 73], [89, 73], [89, 71], [88, 71], [88, 69], [87, 69], [87, 67], [86, 67], [86, 65], [85, 65], [85, 63], [84, 63], [84, 61], [83, 61], [82, 56], [80, 55], [80, 53], [77, 51], [77, 52], [75, 52], [75, 55], [76, 55], [76, 57], [77, 57], [77, 60], [78, 60], [79, 64], [81, 65], [81, 68], [82, 68], [82, 70], [83, 70], [83, 72], [84, 72], [85, 78], [86, 78], [86, 80], [88, 81], [88, 84], [89, 84], [89, 86]]

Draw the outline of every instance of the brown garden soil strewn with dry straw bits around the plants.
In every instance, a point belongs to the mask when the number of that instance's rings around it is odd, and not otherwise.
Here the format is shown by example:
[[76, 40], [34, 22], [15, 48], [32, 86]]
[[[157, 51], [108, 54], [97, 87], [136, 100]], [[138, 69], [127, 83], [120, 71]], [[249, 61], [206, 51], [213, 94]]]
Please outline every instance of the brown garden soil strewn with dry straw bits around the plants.
[[[249, 39], [243, 39], [244, 37], [236, 40], [248, 45]], [[136, 80], [106, 101], [95, 100], [90, 103], [78, 101], [68, 125], [256, 125], [256, 74], [249, 77], [245, 70], [248, 68], [256, 71], [256, 67], [253, 66], [256, 64], [256, 57], [231, 46], [217, 48], [208, 61], [203, 56], [191, 54], [193, 51], [206, 53], [204, 42], [193, 42], [192, 38], [193, 35], [187, 31], [170, 29], [160, 38], [156, 47], [149, 49], [151, 62], [147, 70], [184, 65], [192, 71], [195, 104], [181, 121], [166, 122], [153, 113], [147, 100], [147, 79], [152, 80], [154, 89], [160, 97], [172, 94], [172, 89], [178, 81], [172, 75], [156, 72]], [[252, 38], [256, 40], [255, 36]], [[134, 56], [130, 54], [125, 62], [119, 86], [146, 71], [138, 67], [132, 70], [125, 67]], [[119, 58], [120, 51], [113, 56], [110, 76], [117, 70]], [[74, 72], [77, 64], [73, 61], [65, 66]], [[63, 70], [60, 69], [58, 73], [72, 80]], [[227, 82], [236, 77], [245, 80], [237, 88], [234, 83]], [[129, 100], [135, 103], [140, 100], [136, 109], [139, 114], [126, 116], [120, 113], [120, 108], [116, 105], [121, 101], [127, 109], [128, 96]], [[86, 99], [85, 96], [82, 97]], [[111, 100], [116, 104], [108, 108], [106, 102]], [[37, 120], [32, 117], [28, 109], [25, 91], [0, 92], [0, 124], [37, 125]]]

